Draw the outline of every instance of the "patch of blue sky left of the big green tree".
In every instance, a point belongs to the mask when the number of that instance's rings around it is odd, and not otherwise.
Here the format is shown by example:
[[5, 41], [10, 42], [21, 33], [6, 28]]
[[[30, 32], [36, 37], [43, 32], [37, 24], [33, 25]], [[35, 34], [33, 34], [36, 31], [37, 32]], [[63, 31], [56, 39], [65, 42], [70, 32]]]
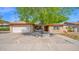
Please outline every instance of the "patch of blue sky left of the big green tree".
[[19, 17], [17, 15], [15, 7], [0, 7], [0, 16], [2, 16], [3, 20], [10, 22], [18, 21]]

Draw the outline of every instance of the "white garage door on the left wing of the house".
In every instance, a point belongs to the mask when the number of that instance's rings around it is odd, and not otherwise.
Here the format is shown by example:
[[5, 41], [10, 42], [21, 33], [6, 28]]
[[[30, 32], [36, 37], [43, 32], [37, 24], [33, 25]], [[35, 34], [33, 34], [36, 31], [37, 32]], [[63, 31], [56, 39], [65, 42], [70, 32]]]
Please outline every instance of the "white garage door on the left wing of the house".
[[31, 31], [31, 27], [30, 26], [26, 26], [26, 27], [13, 27], [13, 32], [14, 33], [27, 33]]

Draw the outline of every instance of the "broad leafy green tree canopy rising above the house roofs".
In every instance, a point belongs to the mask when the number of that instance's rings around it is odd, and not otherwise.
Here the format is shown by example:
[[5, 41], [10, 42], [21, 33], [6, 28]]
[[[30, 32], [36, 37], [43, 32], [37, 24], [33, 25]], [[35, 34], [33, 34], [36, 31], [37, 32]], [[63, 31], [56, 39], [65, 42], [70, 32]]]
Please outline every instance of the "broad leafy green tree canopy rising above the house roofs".
[[61, 23], [68, 20], [70, 8], [59, 7], [17, 7], [21, 21], [35, 23], [37, 20], [43, 24]]

